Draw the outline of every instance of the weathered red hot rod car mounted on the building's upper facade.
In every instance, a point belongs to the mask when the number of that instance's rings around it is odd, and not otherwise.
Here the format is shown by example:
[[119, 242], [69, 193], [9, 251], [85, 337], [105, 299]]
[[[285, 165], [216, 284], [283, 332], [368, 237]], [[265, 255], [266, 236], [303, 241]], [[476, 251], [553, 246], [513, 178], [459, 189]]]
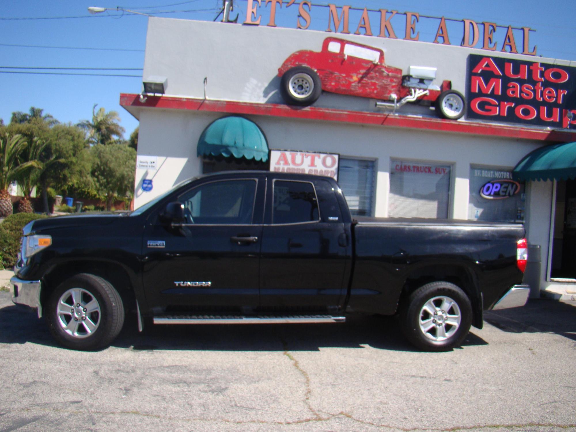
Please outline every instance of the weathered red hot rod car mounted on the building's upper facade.
[[396, 109], [407, 102], [434, 103], [439, 116], [459, 119], [464, 115], [464, 96], [452, 90], [452, 82], [432, 85], [435, 67], [410, 66], [408, 75], [384, 63], [384, 51], [337, 37], [327, 37], [322, 51], [291, 54], [278, 69], [281, 92], [287, 104], [313, 104], [322, 90], [385, 100], [379, 107]]

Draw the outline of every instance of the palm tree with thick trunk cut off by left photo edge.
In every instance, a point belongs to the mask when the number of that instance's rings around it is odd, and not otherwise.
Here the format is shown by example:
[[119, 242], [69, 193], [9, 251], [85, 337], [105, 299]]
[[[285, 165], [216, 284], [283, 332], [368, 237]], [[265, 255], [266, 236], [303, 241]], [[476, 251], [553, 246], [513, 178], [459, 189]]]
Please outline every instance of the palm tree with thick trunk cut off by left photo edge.
[[12, 214], [12, 200], [8, 193], [8, 185], [24, 171], [35, 166], [35, 162], [28, 161], [20, 164], [18, 156], [26, 147], [26, 140], [20, 134], [3, 134], [0, 137], [0, 217]]

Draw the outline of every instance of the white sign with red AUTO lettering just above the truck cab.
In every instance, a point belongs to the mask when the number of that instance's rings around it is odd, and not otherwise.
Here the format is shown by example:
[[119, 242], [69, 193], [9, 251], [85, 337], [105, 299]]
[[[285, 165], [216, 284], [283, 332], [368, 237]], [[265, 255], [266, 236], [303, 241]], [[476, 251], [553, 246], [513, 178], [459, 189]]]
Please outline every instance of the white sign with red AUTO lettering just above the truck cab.
[[338, 154], [271, 150], [270, 170], [332, 177], [338, 180]]

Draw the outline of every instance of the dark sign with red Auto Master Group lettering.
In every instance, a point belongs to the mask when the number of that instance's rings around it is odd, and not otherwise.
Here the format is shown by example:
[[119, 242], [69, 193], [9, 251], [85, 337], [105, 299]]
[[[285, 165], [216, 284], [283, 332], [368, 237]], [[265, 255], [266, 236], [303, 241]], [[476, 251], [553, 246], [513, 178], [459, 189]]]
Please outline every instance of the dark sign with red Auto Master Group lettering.
[[466, 100], [469, 119], [576, 126], [576, 67], [471, 54]]

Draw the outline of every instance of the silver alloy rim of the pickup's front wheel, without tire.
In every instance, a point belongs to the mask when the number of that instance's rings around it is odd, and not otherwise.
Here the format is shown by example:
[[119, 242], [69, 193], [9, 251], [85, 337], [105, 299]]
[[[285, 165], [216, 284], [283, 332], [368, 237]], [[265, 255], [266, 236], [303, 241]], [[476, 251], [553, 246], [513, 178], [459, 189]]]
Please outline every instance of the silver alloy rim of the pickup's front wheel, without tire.
[[58, 301], [58, 323], [74, 338], [90, 336], [100, 325], [102, 313], [94, 295], [82, 288], [72, 288]]

